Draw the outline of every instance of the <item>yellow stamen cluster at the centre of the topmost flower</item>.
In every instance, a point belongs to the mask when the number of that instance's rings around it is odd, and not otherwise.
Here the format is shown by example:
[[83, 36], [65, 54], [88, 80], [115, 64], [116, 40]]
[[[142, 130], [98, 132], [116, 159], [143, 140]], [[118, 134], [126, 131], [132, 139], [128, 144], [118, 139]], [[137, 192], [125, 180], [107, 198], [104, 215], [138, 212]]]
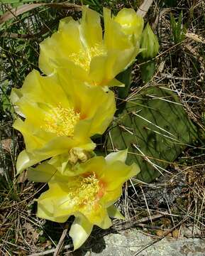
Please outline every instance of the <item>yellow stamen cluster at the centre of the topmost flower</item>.
[[96, 44], [93, 47], [79, 50], [78, 53], [72, 53], [69, 58], [86, 71], [89, 71], [89, 65], [92, 58], [106, 54], [106, 50], [102, 45]]

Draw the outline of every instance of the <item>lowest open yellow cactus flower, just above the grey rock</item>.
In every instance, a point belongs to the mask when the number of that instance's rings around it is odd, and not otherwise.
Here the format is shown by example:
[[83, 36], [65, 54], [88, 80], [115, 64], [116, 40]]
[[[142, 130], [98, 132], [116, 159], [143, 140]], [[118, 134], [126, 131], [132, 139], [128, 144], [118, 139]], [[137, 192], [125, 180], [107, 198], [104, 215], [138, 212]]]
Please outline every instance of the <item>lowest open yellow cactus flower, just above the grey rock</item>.
[[106, 158], [95, 156], [76, 166], [77, 176], [60, 174], [45, 161], [28, 170], [32, 181], [49, 181], [49, 189], [38, 198], [38, 217], [64, 223], [70, 215], [76, 218], [70, 229], [74, 250], [89, 237], [93, 225], [106, 229], [111, 218], [123, 218], [113, 203], [122, 193], [125, 181], [139, 173], [135, 164], [127, 166], [127, 150]]

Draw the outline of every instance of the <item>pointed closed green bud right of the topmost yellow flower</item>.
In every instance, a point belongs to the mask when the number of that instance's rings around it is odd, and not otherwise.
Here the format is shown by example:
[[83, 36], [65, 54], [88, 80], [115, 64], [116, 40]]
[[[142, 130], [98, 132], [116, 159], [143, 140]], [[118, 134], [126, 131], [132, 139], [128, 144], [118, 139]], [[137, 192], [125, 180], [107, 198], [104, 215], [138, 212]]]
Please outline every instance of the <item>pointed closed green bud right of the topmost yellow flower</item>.
[[157, 36], [153, 33], [149, 23], [143, 31], [140, 48], [142, 48], [141, 56], [145, 60], [154, 58], [159, 51], [160, 45], [157, 41]]

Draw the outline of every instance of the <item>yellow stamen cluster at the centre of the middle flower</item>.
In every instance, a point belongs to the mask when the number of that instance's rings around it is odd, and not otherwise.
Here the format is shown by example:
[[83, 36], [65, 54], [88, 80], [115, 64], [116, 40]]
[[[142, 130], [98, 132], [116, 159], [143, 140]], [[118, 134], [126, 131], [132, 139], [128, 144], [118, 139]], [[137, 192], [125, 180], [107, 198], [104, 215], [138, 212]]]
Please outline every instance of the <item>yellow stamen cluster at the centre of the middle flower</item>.
[[57, 136], [72, 137], [74, 126], [79, 121], [79, 113], [74, 112], [73, 107], [64, 108], [61, 105], [52, 108], [45, 117], [45, 131], [57, 134]]

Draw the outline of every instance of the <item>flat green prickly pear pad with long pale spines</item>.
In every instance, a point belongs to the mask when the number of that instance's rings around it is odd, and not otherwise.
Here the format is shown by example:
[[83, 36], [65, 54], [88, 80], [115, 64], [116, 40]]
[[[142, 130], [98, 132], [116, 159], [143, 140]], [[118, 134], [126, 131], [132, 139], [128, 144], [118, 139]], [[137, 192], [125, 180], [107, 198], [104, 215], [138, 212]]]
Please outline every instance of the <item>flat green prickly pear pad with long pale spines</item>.
[[177, 95], [167, 88], [149, 87], [134, 95], [114, 119], [106, 137], [107, 151], [128, 147], [128, 164], [136, 162], [138, 179], [151, 182], [196, 139], [194, 124]]

